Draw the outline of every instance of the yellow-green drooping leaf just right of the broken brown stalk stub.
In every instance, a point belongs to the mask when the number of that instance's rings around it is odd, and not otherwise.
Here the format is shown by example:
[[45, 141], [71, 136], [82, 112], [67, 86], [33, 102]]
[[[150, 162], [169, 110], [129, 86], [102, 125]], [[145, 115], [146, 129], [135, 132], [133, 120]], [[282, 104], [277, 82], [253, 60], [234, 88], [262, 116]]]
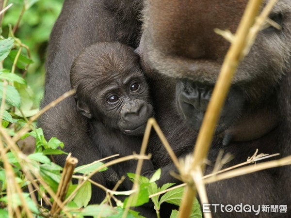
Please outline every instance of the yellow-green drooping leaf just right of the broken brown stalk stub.
[[91, 195], [91, 183], [89, 181], [86, 181], [84, 185], [78, 190], [73, 201], [78, 205], [79, 208], [81, 208], [82, 206], [86, 207], [91, 199]]

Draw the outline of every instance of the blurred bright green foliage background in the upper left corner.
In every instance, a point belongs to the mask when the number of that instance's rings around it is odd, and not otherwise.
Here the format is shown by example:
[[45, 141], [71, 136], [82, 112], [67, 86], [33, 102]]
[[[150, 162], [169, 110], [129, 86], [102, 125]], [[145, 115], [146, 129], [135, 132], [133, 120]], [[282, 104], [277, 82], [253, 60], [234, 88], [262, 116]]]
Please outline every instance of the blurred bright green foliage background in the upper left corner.
[[[26, 93], [33, 101], [32, 108], [38, 108], [43, 96], [45, 83], [45, 61], [49, 41], [49, 34], [53, 24], [59, 16], [64, 0], [8, 0], [7, 5], [13, 5], [5, 13], [2, 21], [2, 35], [6, 37], [9, 25], [14, 27], [20, 17], [15, 36], [30, 48], [33, 63], [30, 64], [25, 79], [28, 83]], [[24, 8], [24, 5], [32, 5]], [[26, 51], [23, 49], [23, 55]], [[8, 57], [3, 65], [11, 69], [14, 58]], [[16, 74], [23, 75], [25, 70], [16, 68]], [[19, 88], [18, 88], [19, 90]], [[21, 90], [21, 89], [20, 89]], [[21, 92], [21, 91], [20, 91]], [[21, 94], [21, 93], [20, 93]]]

